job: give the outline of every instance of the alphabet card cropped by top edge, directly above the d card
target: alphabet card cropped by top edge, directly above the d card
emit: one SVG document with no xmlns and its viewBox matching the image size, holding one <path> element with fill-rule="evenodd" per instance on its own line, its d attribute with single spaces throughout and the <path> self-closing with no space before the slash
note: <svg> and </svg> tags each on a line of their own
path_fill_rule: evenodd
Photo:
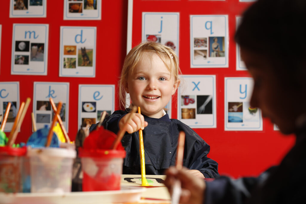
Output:
<svg viewBox="0 0 306 204">
<path fill-rule="evenodd" d="M 64 20 L 101 20 L 102 0 L 64 0 Z"/>
</svg>

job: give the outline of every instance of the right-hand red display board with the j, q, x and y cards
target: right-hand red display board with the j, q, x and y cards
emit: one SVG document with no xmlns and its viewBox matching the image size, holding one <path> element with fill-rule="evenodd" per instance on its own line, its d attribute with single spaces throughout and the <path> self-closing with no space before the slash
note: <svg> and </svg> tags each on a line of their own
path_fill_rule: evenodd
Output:
<svg viewBox="0 0 306 204">
<path fill-rule="evenodd" d="M 164 32 L 172 33 L 172 42 L 179 36 L 179 46 L 173 44 L 179 48 L 176 51 L 183 75 L 177 96 L 172 99 L 170 118 L 182 120 L 192 127 L 210 145 L 208 157 L 218 162 L 220 174 L 234 177 L 258 175 L 269 166 L 277 164 L 294 140 L 279 136 L 280 133 L 274 130 L 273 124 L 259 116 L 259 109 L 257 113 L 249 112 L 255 111 L 249 110 L 250 95 L 244 99 L 239 98 L 244 96 L 238 96 L 240 100 L 236 100 L 237 98 L 231 98 L 235 97 L 236 87 L 232 90 L 231 83 L 226 86 L 226 77 L 237 80 L 250 77 L 238 55 L 239 50 L 233 36 L 239 23 L 238 17 L 252 4 L 250 1 L 129 0 L 128 50 L 147 39 L 147 36 L 162 44 L 170 39 Z M 156 6 L 152 6 L 153 3 Z M 179 18 L 178 26 L 175 20 L 170 23 L 166 16 L 174 13 Z M 245 92 L 245 85 L 246 83 L 241 84 L 241 92 Z M 230 94 L 225 94 L 226 89 Z M 247 89 L 247 94 L 251 94 L 252 88 L 248 83 Z M 206 104 L 205 101 L 210 96 L 213 97 L 207 101 L 204 114 L 199 114 L 200 103 Z M 243 106 L 231 102 L 241 102 Z M 236 107 L 235 105 L 239 106 L 238 109 L 242 108 L 242 117 L 246 118 L 244 122 L 228 122 L 228 113 L 235 114 L 234 110 L 228 112 L 228 109 Z"/>
</svg>

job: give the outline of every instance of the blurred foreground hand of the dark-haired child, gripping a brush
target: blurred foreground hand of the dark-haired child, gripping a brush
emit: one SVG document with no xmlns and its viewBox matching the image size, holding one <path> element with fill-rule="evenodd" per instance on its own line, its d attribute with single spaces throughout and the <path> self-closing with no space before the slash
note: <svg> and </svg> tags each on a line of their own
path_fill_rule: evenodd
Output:
<svg viewBox="0 0 306 204">
<path fill-rule="evenodd" d="M 181 170 L 170 167 L 166 170 L 167 177 L 164 184 L 171 194 L 174 181 L 176 179 L 180 180 L 182 187 L 180 203 L 202 204 L 205 197 L 206 184 L 203 179 L 193 176 L 187 170 L 185 167 Z"/>
</svg>

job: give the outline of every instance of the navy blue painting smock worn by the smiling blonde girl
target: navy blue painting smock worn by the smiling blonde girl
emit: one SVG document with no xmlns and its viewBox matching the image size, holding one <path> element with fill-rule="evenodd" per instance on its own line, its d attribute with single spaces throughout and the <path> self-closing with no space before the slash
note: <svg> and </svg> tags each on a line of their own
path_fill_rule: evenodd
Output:
<svg viewBox="0 0 306 204">
<path fill-rule="evenodd" d="M 127 109 L 129 110 L 129 109 Z M 104 128 L 117 134 L 118 122 L 127 110 L 115 111 L 103 121 Z M 161 118 L 145 115 L 148 126 L 144 128 L 144 158 L 147 175 L 162 175 L 165 169 L 175 165 L 177 140 L 180 131 L 186 134 L 183 165 L 188 169 L 199 170 L 205 178 L 216 178 L 218 163 L 207 157 L 210 146 L 190 127 L 179 120 L 170 119 L 166 114 Z M 91 130 L 95 126 L 91 126 Z M 123 162 L 123 174 L 141 174 L 138 131 L 126 132 L 121 140 L 126 157 Z"/>
</svg>

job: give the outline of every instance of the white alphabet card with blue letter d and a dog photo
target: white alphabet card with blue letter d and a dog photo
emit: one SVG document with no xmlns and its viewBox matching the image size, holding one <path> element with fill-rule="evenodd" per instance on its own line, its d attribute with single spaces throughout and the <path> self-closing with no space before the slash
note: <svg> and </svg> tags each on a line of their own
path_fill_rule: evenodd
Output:
<svg viewBox="0 0 306 204">
<path fill-rule="evenodd" d="M 95 77 L 96 27 L 61 26 L 59 76 Z"/>
</svg>

